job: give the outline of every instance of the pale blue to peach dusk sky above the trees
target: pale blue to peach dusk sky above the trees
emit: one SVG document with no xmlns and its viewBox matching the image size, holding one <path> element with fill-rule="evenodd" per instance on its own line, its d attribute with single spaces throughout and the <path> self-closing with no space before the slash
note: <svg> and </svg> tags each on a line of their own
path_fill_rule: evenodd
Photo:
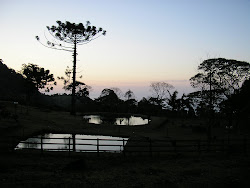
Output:
<svg viewBox="0 0 250 188">
<path fill-rule="evenodd" d="M 0 0 L 0 59 L 16 71 L 33 63 L 63 76 L 72 54 L 35 39 L 46 41 L 46 26 L 57 20 L 107 31 L 78 48 L 77 77 L 92 87 L 92 98 L 118 87 L 141 99 L 158 81 L 187 94 L 203 60 L 250 62 L 250 0 Z M 62 87 L 58 81 L 52 93 Z"/>
</svg>

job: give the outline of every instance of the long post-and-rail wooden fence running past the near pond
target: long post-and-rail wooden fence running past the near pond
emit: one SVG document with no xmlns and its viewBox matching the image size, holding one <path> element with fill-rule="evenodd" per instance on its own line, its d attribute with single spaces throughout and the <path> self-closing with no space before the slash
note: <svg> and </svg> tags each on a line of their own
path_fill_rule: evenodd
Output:
<svg viewBox="0 0 250 188">
<path fill-rule="evenodd" d="M 33 139 L 33 140 L 32 140 Z M 127 154 L 146 153 L 149 155 L 160 153 L 196 152 L 227 152 L 247 154 L 249 143 L 243 139 L 208 140 L 156 140 L 145 137 L 128 139 L 79 139 L 34 137 L 21 141 L 15 149 L 39 149 L 43 151 L 67 152 L 114 152 Z M 47 142 L 47 140 L 50 142 Z M 62 142 L 63 140 L 63 142 Z"/>
</svg>

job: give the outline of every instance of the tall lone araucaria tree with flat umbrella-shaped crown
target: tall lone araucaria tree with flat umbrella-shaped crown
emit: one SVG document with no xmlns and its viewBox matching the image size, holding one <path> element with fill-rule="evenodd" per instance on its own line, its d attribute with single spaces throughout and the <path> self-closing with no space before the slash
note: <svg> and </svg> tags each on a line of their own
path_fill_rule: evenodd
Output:
<svg viewBox="0 0 250 188">
<path fill-rule="evenodd" d="M 106 31 L 102 28 L 97 28 L 96 26 L 91 26 L 90 22 L 87 21 L 86 24 L 75 24 L 69 21 L 62 23 L 57 21 L 57 26 L 47 26 L 47 29 L 51 36 L 56 39 L 53 41 L 47 41 L 47 44 L 43 44 L 46 47 L 64 50 L 73 53 L 73 77 L 72 77 L 72 107 L 71 114 L 75 115 L 75 101 L 76 101 L 76 56 L 77 56 L 77 46 L 82 44 L 87 44 L 92 40 L 105 35 Z M 36 36 L 36 39 L 40 41 L 40 38 Z M 58 42 L 57 42 L 58 41 Z M 62 44 L 62 43 L 63 44 Z"/>
</svg>

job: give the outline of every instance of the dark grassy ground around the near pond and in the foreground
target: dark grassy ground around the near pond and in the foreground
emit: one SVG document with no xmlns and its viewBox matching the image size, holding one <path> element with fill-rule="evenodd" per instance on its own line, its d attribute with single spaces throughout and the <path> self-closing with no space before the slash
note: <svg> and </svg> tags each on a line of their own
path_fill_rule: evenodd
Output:
<svg viewBox="0 0 250 188">
<path fill-rule="evenodd" d="M 15 113 L 14 106 L 7 105 Z M 0 120 L 1 187 L 250 187 L 250 159 L 246 155 L 169 154 L 128 155 L 13 151 L 18 140 L 39 132 L 147 136 L 154 138 L 205 138 L 192 126 L 204 120 L 153 118 L 150 126 L 88 125 L 80 116 L 18 107 L 18 122 Z M 218 128 L 218 137 L 225 131 Z"/>
</svg>

